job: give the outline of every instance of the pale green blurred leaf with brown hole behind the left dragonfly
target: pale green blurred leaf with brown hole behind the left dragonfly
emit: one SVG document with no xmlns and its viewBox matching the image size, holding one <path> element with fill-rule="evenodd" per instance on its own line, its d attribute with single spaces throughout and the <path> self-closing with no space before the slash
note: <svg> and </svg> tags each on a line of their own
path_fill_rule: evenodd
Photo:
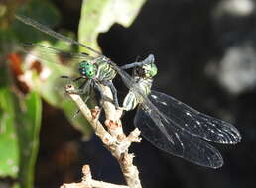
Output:
<svg viewBox="0 0 256 188">
<path fill-rule="evenodd" d="M 47 42 L 40 44 L 47 47 L 65 49 L 66 51 L 71 50 L 70 46 L 66 46 L 61 41 L 55 45 Z M 76 129 L 81 131 L 85 136 L 90 135 L 91 128 L 88 126 L 88 122 L 84 118 L 73 117 L 77 107 L 64 92 L 64 87 L 70 80 L 60 78 L 62 75 L 74 76 L 77 74 L 77 69 L 75 69 L 77 68 L 77 62 L 71 62 L 70 60 L 69 63 L 66 62 L 67 64 L 63 65 L 58 54 L 42 51 L 42 49 L 37 47 L 32 48 L 31 52 L 36 52 L 37 57 L 40 57 L 42 70 L 40 73 L 37 73 L 30 66 L 27 66 L 27 62 L 25 61 L 24 72 L 27 75 L 24 76 L 26 78 L 25 82 L 32 90 L 37 91 L 49 104 L 63 109 L 64 114 Z M 34 60 L 32 59 L 32 61 Z M 28 62 L 28 64 L 30 63 Z"/>
</svg>

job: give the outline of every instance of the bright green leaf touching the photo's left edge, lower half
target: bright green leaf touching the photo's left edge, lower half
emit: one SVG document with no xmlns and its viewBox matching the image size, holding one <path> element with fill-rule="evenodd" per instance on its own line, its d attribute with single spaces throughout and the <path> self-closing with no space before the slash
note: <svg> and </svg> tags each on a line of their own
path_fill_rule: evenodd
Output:
<svg viewBox="0 0 256 188">
<path fill-rule="evenodd" d="M 0 176 L 17 177 L 19 163 L 18 138 L 14 120 L 12 93 L 0 88 Z"/>
</svg>

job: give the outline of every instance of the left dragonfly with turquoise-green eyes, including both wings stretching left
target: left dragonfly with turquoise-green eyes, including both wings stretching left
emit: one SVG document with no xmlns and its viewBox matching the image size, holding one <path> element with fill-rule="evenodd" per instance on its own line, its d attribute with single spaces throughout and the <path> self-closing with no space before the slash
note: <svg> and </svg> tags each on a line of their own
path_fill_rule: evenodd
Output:
<svg viewBox="0 0 256 188">
<path fill-rule="evenodd" d="M 79 86 L 79 88 L 72 91 L 72 93 L 80 94 L 80 95 L 85 94 L 86 96 L 89 96 L 92 88 L 95 88 L 101 96 L 101 99 L 102 99 L 101 103 L 100 103 L 101 106 L 102 106 L 103 101 L 113 101 L 115 107 L 119 108 L 119 103 L 118 103 L 118 98 L 117 98 L 117 90 L 112 82 L 112 80 L 116 76 L 116 72 L 117 72 L 113 68 L 116 65 L 110 59 L 108 59 L 106 56 L 101 54 L 99 51 L 96 51 L 91 47 L 87 47 L 84 44 L 81 44 L 75 40 L 67 38 L 67 37 L 63 36 L 62 34 L 59 34 L 55 31 L 53 31 L 49 27 L 47 27 L 43 24 L 40 24 L 39 22 L 37 22 L 29 17 L 23 16 L 23 15 L 16 15 L 16 18 L 19 21 L 21 21 L 27 25 L 33 26 L 36 29 L 39 29 L 40 31 L 47 33 L 54 38 L 64 40 L 65 42 L 67 42 L 69 44 L 74 44 L 74 45 L 78 45 L 81 47 L 85 47 L 85 48 L 89 49 L 90 51 L 92 51 L 93 53 L 95 53 L 97 56 L 92 57 L 92 56 L 89 56 L 87 53 L 68 53 L 68 52 L 60 50 L 58 48 L 55 48 L 55 47 L 47 47 L 47 46 L 33 44 L 33 43 L 24 43 L 24 44 L 20 45 L 22 47 L 22 49 L 28 53 L 30 52 L 31 48 L 33 48 L 33 47 L 37 48 L 38 53 L 36 54 L 36 56 L 40 56 L 40 58 L 43 58 L 43 59 L 44 59 L 45 55 L 54 53 L 63 58 L 72 58 L 72 59 L 74 59 L 74 61 L 78 61 L 79 62 L 78 63 L 78 66 L 79 66 L 78 71 L 79 71 L 80 76 L 75 78 L 72 81 L 76 82 L 80 79 L 83 79 L 84 81 Z M 141 64 L 133 63 L 133 66 L 139 66 L 139 65 L 141 65 Z M 62 76 L 62 78 L 69 79 L 68 76 Z M 109 97 L 107 97 L 103 94 L 100 84 L 102 84 L 104 86 L 108 86 L 110 88 L 111 92 L 113 93 L 113 100 L 111 100 Z M 84 100 L 87 101 L 88 97 L 85 97 Z"/>
</svg>

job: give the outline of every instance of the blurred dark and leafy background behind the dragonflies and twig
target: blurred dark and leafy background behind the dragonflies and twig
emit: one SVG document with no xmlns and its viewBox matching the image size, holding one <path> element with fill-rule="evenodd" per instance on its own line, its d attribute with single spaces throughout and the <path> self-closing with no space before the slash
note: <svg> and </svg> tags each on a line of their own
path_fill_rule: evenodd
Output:
<svg viewBox="0 0 256 188">
<path fill-rule="evenodd" d="M 237 145 L 214 144 L 220 169 L 196 166 L 148 141 L 134 144 L 144 188 L 244 188 L 256 180 L 255 0 L 2 0 L 0 1 L 0 187 L 59 187 L 77 182 L 83 164 L 95 179 L 124 184 L 118 163 L 64 95 L 71 65 L 22 42 L 68 46 L 14 19 L 27 15 L 101 51 L 119 65 L 155 55 L 153 88 L 234 124 Z M 35 49 L 36 50 L 36 49 Z M 58 63 L 51 63 L 51 62 Z M 58 65 L 59 64 L 59 65 Z M 60 68 L 61 67 L 61 68 Z M 127 90 L 117 78 L 120 95 Z M 123 118 L 132 130 L 135 112 Z"/>
</svg>

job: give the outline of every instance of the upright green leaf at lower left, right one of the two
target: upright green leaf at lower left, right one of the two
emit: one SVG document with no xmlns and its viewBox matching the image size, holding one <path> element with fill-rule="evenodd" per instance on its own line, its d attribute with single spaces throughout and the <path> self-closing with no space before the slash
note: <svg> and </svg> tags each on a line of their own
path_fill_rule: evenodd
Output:
<svg viewBox="0 0 256 188">
<path fill-rule="evenodd" d="M 20 147 L 19 180 L 21 187 L 32 188 L 34 167 L 39 148 L 42 102 L 36 92 L 28 94 L 21 102 L 21 109 L 16 112 Z"/>
</svg>

